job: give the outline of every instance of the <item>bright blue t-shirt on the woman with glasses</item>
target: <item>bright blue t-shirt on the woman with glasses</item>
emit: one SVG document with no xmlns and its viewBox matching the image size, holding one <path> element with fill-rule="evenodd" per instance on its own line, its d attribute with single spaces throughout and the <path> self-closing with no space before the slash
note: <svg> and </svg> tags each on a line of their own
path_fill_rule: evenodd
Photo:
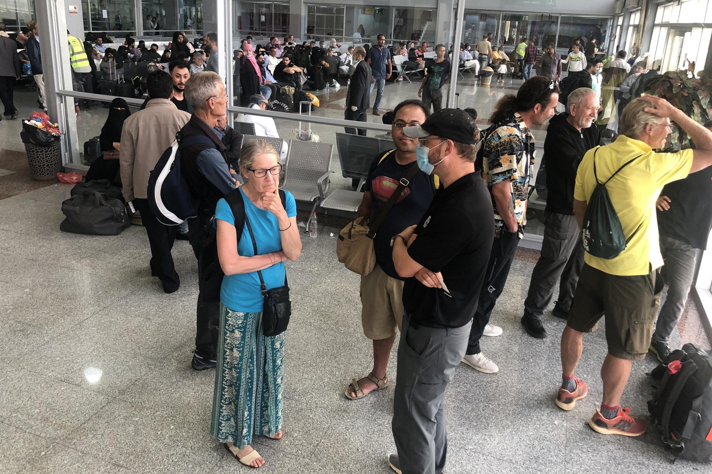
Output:
<svg viewBox="0 0 712 474">
<path fill-rule="evenodd" d="M 277 217 L 270 211 L 259 209 L 252 204 L 252 201 L 245 196 L 245 192 L 242 189 L 240 189 L 240 192 L 245 203 L 245 216 L 250 220 L 252 232 L 255 234 L 258 255 L 281 251 L 282 240 Z M 287 211 L 287 216 L 294 217 L 297 215 L 297 204 L 294 201 L 294 196 L 289 191 L 284 192 L 286 193 L 285 210 Z M 215 218 L 235 225 L 232 209 L 230 209 L 230 205 L 227 204 L 225 199 L 218 201 Z M 239 236 L 240 230 L 238 229 L 237 232 Z M 242 229 L 242 236 L 237 243 L 237 253 L 243 257 L 255 256 L 247 225 Z M 284 263 L 276 263 L 262 270 L 262 278 L 264 278 L 268 290 L 283 286 L 285 276 Z M 225 275 L 220 288 L 220 301 L 233 311 L 261 312 L 264 306 L 264 298 L 260 291 L 260 277 L 257 272 Z"/>
</svg>

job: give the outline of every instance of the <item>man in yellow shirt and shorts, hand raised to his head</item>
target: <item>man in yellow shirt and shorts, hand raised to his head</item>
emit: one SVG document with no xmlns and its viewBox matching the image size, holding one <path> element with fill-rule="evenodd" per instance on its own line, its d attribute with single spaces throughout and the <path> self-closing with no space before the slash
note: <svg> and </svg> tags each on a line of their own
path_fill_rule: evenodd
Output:
<svg viewBox="0 0 712 474">
<path fill-rule="evenodd" d="M 666 146 L 671 120 L 690 135 L 696 149 L 653 151 Z M 664 285 L 658 273 L 663 259 L 655 202 L 665 184 L 712 164 L 712 132 L 666 100 L 649 95 L 627 105 L 620 131 L 615 142 L 583 157 L 576 176 L 574 215 L 581 227 L 597 182 L 603 183 L 620 169 L 605 186 L 627 246 L 609 260 L 585 253 L 561 337 L 562 384 L 556 404 L 568 411 L 586 396 L 586 382 L 575 379 L 574 370 L 581 357 L 583 333 L 594 331 L 605 314 L 608 354 L 601 368 L 603 401 L 589 425 L 602 434 L 640 436 L 645 421 L 630 416 L 619 402 L 632 361 L 643 359 L 648 351 Z"/>
</svg>

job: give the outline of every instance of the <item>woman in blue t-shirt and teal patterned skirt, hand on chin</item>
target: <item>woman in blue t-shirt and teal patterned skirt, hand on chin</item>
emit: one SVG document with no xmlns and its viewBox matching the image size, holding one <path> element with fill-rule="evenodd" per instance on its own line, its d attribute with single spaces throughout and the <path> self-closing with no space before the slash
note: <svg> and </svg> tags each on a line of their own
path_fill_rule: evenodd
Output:
<svg viewBox="0 0 712 474">
<path fill-rule="evenodd" d="M 268 290 L 283 286 L 284 262 L 302 251 L 294 196 L 279 197 L 282 171 L 278 152 L 263 140 L 242 147 L 239 190 L 257 244 L 247 226 L 235 228 L 229 204 L 215 210 L 217 246 L 225 278 L 220 290 L 220 330 L 210 433 L 244 465 L 259 468 L 264 460 L 252 436 L 282 438 L 284 335 L 265 337 L 263 296 L 257 270 Z M 286 209 L 285 209 L 286 208 Z"/>
</svg>

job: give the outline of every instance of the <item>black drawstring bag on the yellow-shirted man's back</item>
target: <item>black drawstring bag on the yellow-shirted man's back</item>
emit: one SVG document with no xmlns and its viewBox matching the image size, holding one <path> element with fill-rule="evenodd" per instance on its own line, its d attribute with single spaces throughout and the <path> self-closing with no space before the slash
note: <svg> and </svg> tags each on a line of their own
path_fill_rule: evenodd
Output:
<svg viewBox="0 0 712 474">
<path fill-rule="evenodd" d="M 643 224 L 641 223 L 629 238 L 625 237 L 623 226 L 613 206 L 611 197 L 608 195 L 606 184 L 622 169 L 643 155 L 641 154 L 625 162 L 606 181 L 601 182 L 598 180 L 596 172 L 596 153 L 599 149 L 600 147 L 597 147 L 593 152 L 593 176 L 596 179 L 596 187 L 588 199 L 588 206 L 583 215 L 583 248 L 592 256 L 610 260 L 625 250 L 630 239 L 638 233 Z"/>
</svg>

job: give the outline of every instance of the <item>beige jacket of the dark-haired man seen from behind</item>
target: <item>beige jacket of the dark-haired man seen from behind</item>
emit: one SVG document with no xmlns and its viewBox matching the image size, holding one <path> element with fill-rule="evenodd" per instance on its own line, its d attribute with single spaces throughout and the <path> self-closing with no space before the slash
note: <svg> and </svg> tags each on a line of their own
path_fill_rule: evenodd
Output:
<svg viewBox="0 0 712 474">
<path fill-rule="evenodd" d="M 148 177 L 190 114 L 168 99 L 152 99 L 128 117 L 121 129 L 121 182 L 124 199 L 146 199 Z"/>
</svg>

